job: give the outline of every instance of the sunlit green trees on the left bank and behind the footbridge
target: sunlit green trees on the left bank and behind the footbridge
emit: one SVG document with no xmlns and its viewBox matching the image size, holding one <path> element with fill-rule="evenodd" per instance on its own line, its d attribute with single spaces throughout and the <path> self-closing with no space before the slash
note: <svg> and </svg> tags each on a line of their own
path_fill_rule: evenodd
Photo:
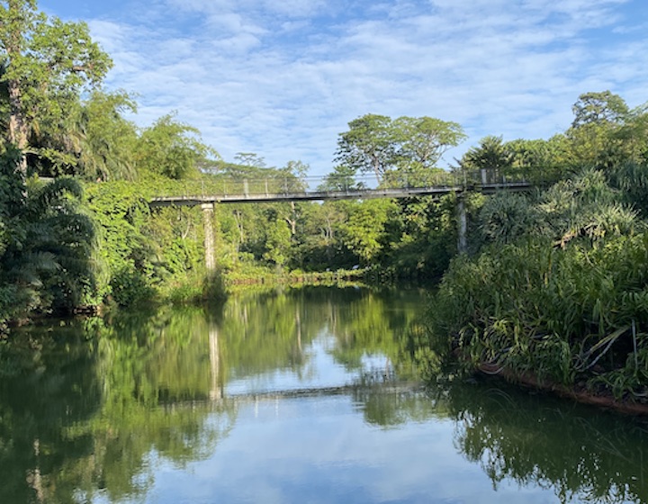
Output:
<svg viewBox="0 0 648 504">
<path fill-rule="evenodd" d="M 381 264 L 392 265 L 382 274 L 439 275 L 453 254 L 452 202 L 232 205 L 207 224 L 218 250 L 218 271 L 208 272 L 200 209 L 151 209 L 150 197 L 242 180 L 299 189 L 309 167 L 268 167 L 252 153 L 223 161 L 173 114 L 136 127 L 137 103 L 101 86 L 112 61 L 85 23 L 48 18 L 35 0 L 0 4 L 0 54 L 0 323 L 213 296 L 223 278 L 277 271 Z M 453 122 L 367 115 L 341 135 L 324 188 L 357 185 L 365 171 L 376 184 L 429 177 L 463 138 Z"/>
</svg>

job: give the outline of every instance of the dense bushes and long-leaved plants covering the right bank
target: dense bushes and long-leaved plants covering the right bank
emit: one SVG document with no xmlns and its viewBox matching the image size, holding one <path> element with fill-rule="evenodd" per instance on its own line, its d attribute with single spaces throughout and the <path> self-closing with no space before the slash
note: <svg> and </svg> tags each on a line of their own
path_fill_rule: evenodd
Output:
<svg viewBox="0 0 648 504">
<path fill-rule="evenodd" d="M 644 401 L 648 114 L 609 92 L 573 110 L 545 163 L 526 168 L 552 167 L 554 184 L 501 193 L 475 214 L 473 255 L 447 271 L 435 325 L 471 367 Z M 463 164 L 515 169 L 516 145 L 485 139 Z"/>
</svg>

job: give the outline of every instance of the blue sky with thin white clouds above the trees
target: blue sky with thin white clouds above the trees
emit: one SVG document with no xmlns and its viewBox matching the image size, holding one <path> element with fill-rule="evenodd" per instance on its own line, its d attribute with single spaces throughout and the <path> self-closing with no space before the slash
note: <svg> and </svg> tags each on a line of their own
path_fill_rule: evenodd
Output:
<svg viewBox="0 0 648 504">
<path fill-rule="evenodd" d="M 579 94 L 648 101 L 645 0 L 41 0 L 114 60 L 148 126 L 176 112 L 226 160 L 329 173 L 365 113 L 437 117 L 468 139 L 549 138 Z"/>
</svg>

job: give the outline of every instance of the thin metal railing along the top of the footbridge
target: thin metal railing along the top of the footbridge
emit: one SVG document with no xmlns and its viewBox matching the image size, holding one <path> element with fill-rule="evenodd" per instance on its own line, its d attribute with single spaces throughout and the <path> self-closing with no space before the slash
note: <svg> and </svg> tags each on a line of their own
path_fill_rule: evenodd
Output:
<svg viewBox="0 0 648 504">
<path fill-rule="evenodd" d="M 160 185 L 152 190 L 152 197 L 271 196 L 320 191 L 468 187 L 483 184 L 505 184 L 521 180 L 522 177 L 500 175 L 495 170 L 445 171 L 424 175 L 393 172 L 385 175 L 381 184 L 376 182 L 373 175 L 356 176 L 352 184 L 345 184 L 344 180 L 336 182 L 331 177 L 229 178 L 217 175 Z M 320 189 L 324 183 L 327 183 L 326 189 Z"/>
</svg>

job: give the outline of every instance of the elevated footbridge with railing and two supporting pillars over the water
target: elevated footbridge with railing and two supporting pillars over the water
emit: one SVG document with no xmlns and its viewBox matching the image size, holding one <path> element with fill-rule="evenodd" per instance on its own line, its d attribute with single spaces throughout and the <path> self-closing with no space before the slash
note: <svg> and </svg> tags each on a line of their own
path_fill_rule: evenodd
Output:
<svg viewBox="0 0 648 504">
<path fill-rule="evenodd" d="M 321 190 L 322 184 L 333 184 L 332 190 Z M 310 187 L 316 187 L 311 190 Z M 215 203 L 251 202 L 308 202 L 330 200 L 367 200 L 375 198 L 411 198 L 432 196 L 439 198 L 449 193 L 462 195 L 469 191 L 492 194 L 499 191 L 526 191 L 531 184 L 525 180 L 511 180 L 497 171 L 430 174 L 424 181 L 390 180 L 378 187 L 370 187 L 360 180 L 353 185 L 336 183 L 327 177 L 299 179 L 294 176 L 275 176 L 264 179 L 216 178 L 178 183 L 172 189 L 149 200 L 151 207 L 201 205 L 205 231 L 205 266 L 216 267 L 213 229 L 211 222 Z M 466 249 L 466 213 L 463 198 L 458 198 L 458 249 Z"/>
</svg>

